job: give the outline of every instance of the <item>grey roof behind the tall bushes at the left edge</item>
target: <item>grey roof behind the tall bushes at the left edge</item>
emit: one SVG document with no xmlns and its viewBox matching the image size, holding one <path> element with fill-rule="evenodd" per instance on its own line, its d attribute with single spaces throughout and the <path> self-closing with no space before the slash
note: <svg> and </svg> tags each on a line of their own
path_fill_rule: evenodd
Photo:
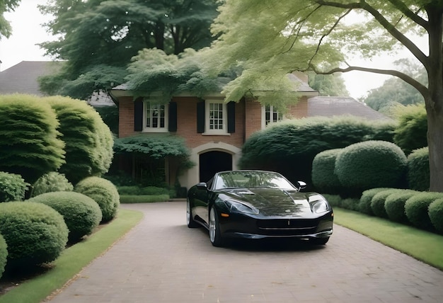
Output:
<svg viewBox="0 0 443 303">
<path fill-rule="evenodd" d="M 22 61 L 0 72 L 0 94 L 28 93 L 44 96 L 38 88 L 38 77 L 53 74 L 59 67 L 59 62 Z"/>
</svg>

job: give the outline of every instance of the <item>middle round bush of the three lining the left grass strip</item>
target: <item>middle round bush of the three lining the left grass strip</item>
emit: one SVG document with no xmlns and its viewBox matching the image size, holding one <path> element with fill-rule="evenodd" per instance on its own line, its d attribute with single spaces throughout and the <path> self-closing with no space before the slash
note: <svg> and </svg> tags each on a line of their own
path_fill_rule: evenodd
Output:
<svg viewBox="0 0 443 303">
<path fill-rule="evenodd" d="M 43 203 L 57 210 L 69 229 L 69 241 L 91 234 L 101 221 L 101 210 L 87 195 L 74 192 L 43 193 L 28 200 Z"/>
</svg>

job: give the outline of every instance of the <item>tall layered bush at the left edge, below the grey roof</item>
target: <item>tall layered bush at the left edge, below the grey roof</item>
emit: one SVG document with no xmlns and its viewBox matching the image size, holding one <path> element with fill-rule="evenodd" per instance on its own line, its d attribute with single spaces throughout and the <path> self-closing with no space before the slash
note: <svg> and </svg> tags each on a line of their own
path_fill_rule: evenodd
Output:
<svg viewBox="0 0 443 303">
<path fill-rule="evenodd" d="M 0 95 L 0 171 L 16 173 L 30 184 L 64 164 L 59 121 L 40 99 Z"/>
</svg>

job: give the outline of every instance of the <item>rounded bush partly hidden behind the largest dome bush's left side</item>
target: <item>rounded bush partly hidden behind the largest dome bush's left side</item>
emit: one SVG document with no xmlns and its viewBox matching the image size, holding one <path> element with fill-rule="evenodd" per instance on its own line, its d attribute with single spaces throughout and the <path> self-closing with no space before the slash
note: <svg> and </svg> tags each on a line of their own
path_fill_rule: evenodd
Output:
<svg viewBox="0 0 443 303">
<path fill-rule="evenodd" d="M 335 159 L 342 149 L 328 149 L 316 154 L 312 161 L 312 183 L 321 193 L 340 193 L 340 181 L 334 173 Z"/>
</svg>

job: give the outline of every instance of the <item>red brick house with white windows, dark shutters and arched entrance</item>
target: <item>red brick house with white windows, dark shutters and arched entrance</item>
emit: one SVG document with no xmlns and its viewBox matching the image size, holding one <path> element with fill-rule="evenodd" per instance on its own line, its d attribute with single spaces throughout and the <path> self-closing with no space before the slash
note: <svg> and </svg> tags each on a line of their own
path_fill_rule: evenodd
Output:
<svg viewBox="0 0 443 303">
<path fill-rule="evenodd" d="M 155 93 L 134 100 L 134 93 L 124 84 L 111 89 L 109 94 L 119 108 L 120 138 L 169 134 L 185 139 L 195 166 L 180 176 L 175 176 L 175 164 L 168 163 L 168 159 L 164 168 L 167 183 L 173 185 L 178 178 L 181 186 L 190 188 L 208 181 L 217 171 L 238 168 L 241 147 L 253 132 L 280 120 L 308 116 L 308 99 L 318 96 L 318 91 L 308 86 L 304 74 L 290 74 L 289 79 L 297 83 L 294 99 L 300 95 L 301 98 L 284 116 L 272 106 L 262 106 L 250 98 L 224 103 L 220 93 L 210 93 L 204 98 L 182 93 L 173 96 L 168 105 L 156 104 Z"/>
</svg>

